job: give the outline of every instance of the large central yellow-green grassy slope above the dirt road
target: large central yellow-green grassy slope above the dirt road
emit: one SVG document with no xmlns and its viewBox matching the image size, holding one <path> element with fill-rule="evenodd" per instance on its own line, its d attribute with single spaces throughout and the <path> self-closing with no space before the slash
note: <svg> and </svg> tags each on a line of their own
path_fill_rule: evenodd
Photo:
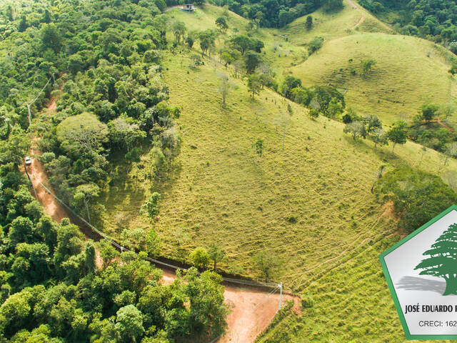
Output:
<svg viewBox="0 0 457 343">
<path fill-rule="evenodd" d="M 171 165 L 171 178 L 152 185 L 136 181 L 137 170 L 149 165 L 147 154 L 128 173 L 118 167 L 104 193 L 104 229 L 113 235 L 124 228 L 144 227 L 146 232 L 151 222 L 139 216 L 139 209 L 151 192 L 159 192 L 161 214 L 154 229 L 166 256 L 185 259 L 195 247 L 216 243 L 228 253 L 225 270 L 256 276 L 251 257 L 266 249 L 282 260 L 276 279 L 298 294 L 310 292 L 322 308 L 334 304 L 330 318 L 349 311 L 341 302 L 363 295 L 351 302 L 353 315 L 373 319 L 378 302 L 390 304 L 377 254 L 398 236 L 385 239 L 396 233 L 394 219 L 388 207 L 376 202 L 371 185 L 381 164 L 417 165 L 420 146 L 408 142 L 398 146 L 395 155 L 390 146 L 375 150 L 345 136 L 343 124 L 323 117 L 313 121 L 306 109 L 291 103 L 292 126 L 283 150 L 276 121 L 286 112 L 285 99 L 263 90 L 252 100 L 241 80 L 233 79 L 235 90 L 223 106 L 217 74 L 224 67 L 207 59 L 201 68 L 191 69 L 189 62 L 188 56 L 171 54 L 164 61 L 164 66 L 181 66 L 165 73 L 171 101 L 183 109 L 177 119 L 183 143 Z M 261 158 L 252 148 L 258 138 L 265 146 Z M 436 172 L 438 165 L 433 151 L 421 168 Z M 448 169 L 455 168 L 456 161 L 451 161 Z M 360 272 L 348 275 L 346 268 L 356 259 L 363 261 L 356 269 Z M 370 282 L 363 279 L 366 289 L 356 289 L 356 280 L 372 272 Z M 334 280 L 346 288 L 340 292 Z M 368 302 L 373 304 L 370 309 L 364 305 Z M 398 325 L 389 324 L 397 320 L 393 305 L 381 308 L 378 327 L 396 327 L 395 337 L 401 339 Z M 318 322 L 330 315 L 315 311 L 313 320 Z M 310 330 L 301 319 L 287 320 Z M 335 334 L 332 325 L 320 327 L 323 337 Z M 371 330 L 363 337 L 378 342 L 392 337 L 392 332 Z M 356 337 L 356 331 L 348 332 L 345 342 L 357 342 Z"/>
</svg>

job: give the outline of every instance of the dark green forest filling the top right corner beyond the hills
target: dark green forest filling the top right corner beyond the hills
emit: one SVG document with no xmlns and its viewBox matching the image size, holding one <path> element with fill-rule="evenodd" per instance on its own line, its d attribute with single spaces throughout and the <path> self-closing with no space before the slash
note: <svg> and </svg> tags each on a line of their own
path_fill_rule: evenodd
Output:
<svg viewBox="0 0 457 343">
<path fill-rule="evenodd" d="M 457 52 L 457 4 L 453 0 L 360 0 L 359 4 L 374 14 L 393 11 L 394 29 L 401 34 L 436 41 Z"/>
</svg>

